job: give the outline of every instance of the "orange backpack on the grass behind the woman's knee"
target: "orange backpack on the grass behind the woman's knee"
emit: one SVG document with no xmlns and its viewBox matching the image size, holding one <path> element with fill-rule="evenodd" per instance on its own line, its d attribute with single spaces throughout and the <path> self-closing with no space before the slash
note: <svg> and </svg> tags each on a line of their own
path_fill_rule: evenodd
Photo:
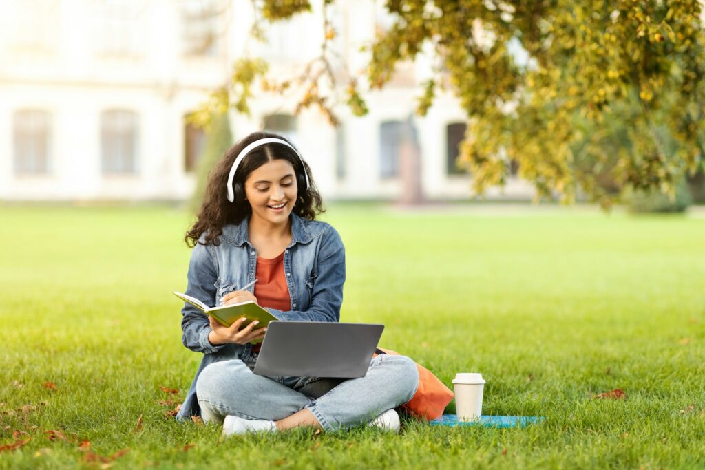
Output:
<svg viewBox="0 0 705 470">
<path fill-rule="evenodd" d="M 400 355 L 396 351 L 383 350 L 378 347 L 372 357 L 379 354 Z M 417 418 L 423 418 L 427 421 L 443 416 L 443 410 L 453 400 L 453 392 L 429 369 L 419 364 L 416 364 L 416 369 L 419 371 L 419 388 L 417 388 L 414 397 L 402 407 Z"/>
</svg>

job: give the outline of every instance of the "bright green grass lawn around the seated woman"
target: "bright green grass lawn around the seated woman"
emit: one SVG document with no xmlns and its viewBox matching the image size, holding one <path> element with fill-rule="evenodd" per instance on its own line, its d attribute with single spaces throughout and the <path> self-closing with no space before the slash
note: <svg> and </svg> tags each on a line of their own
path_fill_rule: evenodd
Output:
<svg viewBox="0 0 705 470">
<path fill-rule="evenodd" d="M 222 440 L 159 403 L 180 402 L 201 359 L 171 295 L 188 216 L 0 208 L 0 446 L 30 438 L 0 467 L 702 468 L 705 218 L 527 209 L 344 205 L 324 220 L 346 247 L 341 321 L 384 323 L 383 347 L 448 385 L 482 372 L 484 414 L 544 423 Z M 594 399 L 616 388 L 623 400 Z"/>
</svg>

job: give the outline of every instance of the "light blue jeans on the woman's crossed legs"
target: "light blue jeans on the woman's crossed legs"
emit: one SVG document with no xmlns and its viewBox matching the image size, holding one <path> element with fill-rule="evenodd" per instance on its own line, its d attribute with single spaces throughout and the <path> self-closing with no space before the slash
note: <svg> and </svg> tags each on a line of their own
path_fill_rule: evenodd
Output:
<svg viewBox="0 0 705 470">
<path fill-rule="evenodd" d="M 381 354 L 360 378 L 257 376 L 257 353 L 209 364 L 198 377 L 196 394 L 203 421 L 221 423 L 226 415 L 279 420 L 308 409 L 333 431 L 373 419 L 412 399 L 419 384 L 414 361 Z"/>
</svg>

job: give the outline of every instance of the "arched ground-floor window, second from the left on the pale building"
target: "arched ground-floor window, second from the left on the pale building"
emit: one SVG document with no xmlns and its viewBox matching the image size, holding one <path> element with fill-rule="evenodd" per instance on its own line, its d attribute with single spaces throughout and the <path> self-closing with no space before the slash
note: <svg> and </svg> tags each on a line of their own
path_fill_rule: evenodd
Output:
<svg viewBox="0 0 705 470">
<path fill-rule="evenodd" d="M 137 173 L 139 118 L 133 111 L 104 111 L 100 117 L 101 171 Z"/>
</svg>

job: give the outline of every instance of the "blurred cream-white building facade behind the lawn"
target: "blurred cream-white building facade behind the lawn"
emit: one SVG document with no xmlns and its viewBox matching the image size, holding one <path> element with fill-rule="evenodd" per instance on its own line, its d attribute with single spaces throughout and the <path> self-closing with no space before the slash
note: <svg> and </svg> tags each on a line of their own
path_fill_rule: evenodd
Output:
<svg viewBox="0 0 705 470">
<path fill-rule="evenodd" d="M 357 73 L 368 58 L 360 48 L 388 18 L 372 0 L 336 4 L 331 48 Z M 185 116 L 227 82 L 233 61 L 247 51 L 286 77 L 320 53 L 319 5 L 269 26 L 266 44 L 249 39 L 252 20 L 248 0 L 0 2 L 0 199 L 190 197 L 205 135 Z M 233 135 L 266 128 L 291 137 L 326 198 L 404 199 L 411 174 L 424 199 L 467 199 L 470 175 L 455 166 L 465 133 L 458 101 L 442 94 L 414 116 L 430 69 L 424 58 L 401 64 L 383 91 L 365 96 L 366 116 L 336 107 L 338 128 L 314 109 L 295 116 L 295 94 L 259 93 L 250 116 L 231 116 Z M 415 170 L 405 173 L 410 145 Z M 488 194 L 531 195 L 517 178 Z"/>
</svg>

